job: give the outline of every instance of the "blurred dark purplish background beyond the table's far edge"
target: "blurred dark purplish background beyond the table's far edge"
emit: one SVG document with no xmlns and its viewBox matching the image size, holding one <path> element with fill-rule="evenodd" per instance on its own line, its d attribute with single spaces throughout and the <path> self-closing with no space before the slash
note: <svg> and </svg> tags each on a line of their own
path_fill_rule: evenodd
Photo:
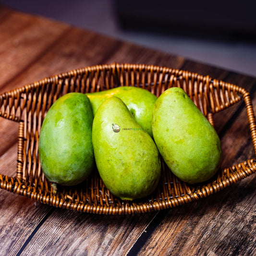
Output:
<svg viewBox="0 0 256 256">
<path fill-rule="evenodd" d="M 0 3 L 256 76 L 254 1 L 0 0 Z"/>
</svg>

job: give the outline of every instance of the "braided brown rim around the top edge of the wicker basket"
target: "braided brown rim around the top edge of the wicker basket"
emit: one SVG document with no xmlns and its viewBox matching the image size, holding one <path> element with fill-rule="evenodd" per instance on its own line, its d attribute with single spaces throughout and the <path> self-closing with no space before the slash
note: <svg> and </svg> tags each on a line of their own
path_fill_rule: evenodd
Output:
<svg viewBox="0 0 256 256">
<path fill-rule="evenodd" d="M 232 85 L 223 81 L 219 81 L 216 79 L 212 79 L 210 76 L 203 76 L 197 73 L 189 72 L 189 71 L 183 71 L 178 69 L 171 69 L 168 67 L 161 67 L 161 66 L 155 66 L 155 65 L 146 65 L 146 64 L 128 64 L 128 63 L 112 63 L 112 64 L 103 64 L 103 65 L 95 65 L 95 66 L 89 66 L 84 67 L 80 69 L 74 69 L 68 72 L 60 73 L 57 75 L 46 77 L 42 80 L 39 80 L 37 82 L 34 82 L 32 84 L 24 85 L 23 87 L 13 89 L 9 92 L 3 93 L 0 95 L 0 110 L 1 107 L 4 105 L 9 106 L 10 108 L 13 108 L 13 105 L 15 105 L 12 100 L 19 99 L 20 95 L 22 93 L 30 93 L 31 90 L 37 89 L 42 85 L 49 84 L 49 83 L 57 83 L 60 80 L 65 80 L 67 78 L 73 77 L 74 79 L 82 74 L 85 73 L 100 73 L 102 71 L 109 71 L 112 72 L 114 76 L 118 75 L 118 72 L 130 72 L 130 71 L 137 71 L 137 72 L 150 72 L 150 73 L 169 73 L 171 74 L 170 77 L 172 80 L 180 80 L 180 81 L 188 81 L 196 79 L 199 81 L 204 81 L 205 83 L 208 83 L 209 86 L 207 87 L 209 90 L 232 90 L 234 92 L 237 92 L 241 97 L 239 100 L 244 99 L 245 101 L 245 107 L 247 109 L 247 115 L 249 119 L 250 124 L 250 130 L 251 130 L 251 136 L 253 138 L 253 145 L 254 150 L 256 151 L 256 131 L 255 131 L 255 118 L 254 118 L 254 112 L 252 109 L 252 104 L 250 100 L 249 93 L 243 88 L 239 87 L 237 85 Z M 166 81 L 165 81 L 166 83 Z M 124 85 L 121 85 L 124 86 Z M 148 85 L 151 86 L 151 85 Z M 11 99 L 11 103 L 10 103 Z M 212 99 L 210 99 L 212 100 Z M 9 102 L 8 104 L 6 102 Z M 230 105 L 236 103 L 238 99 L 235 99 L 234 102 L 229 102 Z M 221 106 L 219 105 L 218 108 L 214 109 L 213 111 L 218 112 L 222 109 L 228 108 L 229 106 Z M 8 110 L 9 111 L 9 110 Z M 7 112 L 8 112 L 7 111 Z M 9 111 L 10 112 L 10 111 Z M 0 111 L 0 116 L 6 119 L 11 119 L 16 122 L 21 122 L 21 117 L 17 118 L 12 115 L 8 116 L 8 113 L 3 113 L 3 111 Z M 146 213 L 150 211 L 155 211 L 159 209 L 164 208 L 170 208 L 175 207 L 178 205 L 182 205 L 184 203 L 188 203 L 191 201 L 194 201 L 196 199 L 206 197 L 208 195 L 211 195 L 213 193 L 218 192 L 221 189 L 224 189 L 225 187 L 231 185 L 232 183 L 236 183 L 249 175 L 256 172 L 256 159 L 248 159 L 242 163 L 238 163 L 232 167 L 228 167 L 225 170 L 239 170 L 236 172 L 236 175 L 231 175 L 229 178 L 226 178 L 222 181 L 216 181 L 215 183 L 211 183 L 211 185 L 207 185 L 203 187 L 201 190 L 196 190 L 194 192 L 191 192 L 190 194 L 186 195 L 180 195 L 175 198 L 169 198 L 164 199 L 161 201 L 155 201 L 155 202 L 147 202 L 145 204 L 131 204 L 130 206 L 127 205 L 127 202 L 122 201 L 122 205 L 120 207 L 106 207 L 106 206 L 100 206 L 97 204 L 94 205 L 86 205 L 85 203 L 82 204 L 75 204 L 71 201 L 61 201 L 61 198 L 58 197 L 58 195 L 53 195 L 52 192 L 49 190 L 47 193 L 44 191 L 43 193 L 38 193 L 35 189 L 33 189 L 33 185 L 30 185 L 28 182 L 22 181 L 20 178 L 16 177 L 9 177 L 7 175 L 0 174 L 0 188 L 5 189 L 7 191 L 10 191 L 12 193 L 16 193 L 18 195 L 25 195 L 29 198 L 32 198 L 34 200 L 37 200 L 39 202 L 42 202 L 44 204 L 49 204 L 56 207 L 63 207 L 78 211 L 84 211 L 89 213 L 98 213 L 98 214 L 131 214 L 131 213 Z"/>
</svg>

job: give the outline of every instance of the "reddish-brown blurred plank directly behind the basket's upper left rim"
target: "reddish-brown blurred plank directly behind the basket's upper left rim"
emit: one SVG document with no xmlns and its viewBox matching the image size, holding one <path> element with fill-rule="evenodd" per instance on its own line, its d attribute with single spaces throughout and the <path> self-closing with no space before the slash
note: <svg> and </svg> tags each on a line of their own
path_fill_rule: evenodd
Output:
<svg viewBox="0 0 256 256">
<path fill-rule="evenodd" d="M 54 46 L 37 58 L 33 65 L 28 66 L 23 73 L 13 78 L 2 89 L 7 91 L 34 83 L 45 77 L 99 64 L 108 55 L 102 50 L 101 43 L 104 44 L 106 51 L 114 51 L 119 44 L 114 40 L 73 28 L 65 37 L 60 38 Z"/>
</svg>

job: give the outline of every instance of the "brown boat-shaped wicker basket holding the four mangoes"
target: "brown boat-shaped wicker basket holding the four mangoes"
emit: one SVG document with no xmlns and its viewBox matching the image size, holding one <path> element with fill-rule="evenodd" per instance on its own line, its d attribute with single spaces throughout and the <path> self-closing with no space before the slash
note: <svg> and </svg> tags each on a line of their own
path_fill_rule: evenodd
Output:
<svg viewBox="0 0 256 256">
<path fill-rule="evenodd" d="M 256 160 L 249 159 L 219 170 L 214 179 L 193 186 L 181 182 L 162 161 L 158 187 L 144 199 L 127 202 L 111 195 L 97 170 L 77 186 L 58 186 L 56 193 L 44 177 L 38 159 L 38 137 L 47 110 L 66 93 L 96 92 L 117 86 L 139 86 L 156 96 L 169 87 L 182 87 L 212 124 L 214 113 L 244 100 L 256 151 L 255 116 L 249 93 L 244 88 L 165 67 L 97 65 L 45 78 L 0 95 L 0 116 L 19 122 L 16 177 L 0 174 L 0 188 L 55 207 L 97 214 L 132 214 L 175 207 L 206 197 L 256 171 Z"/>
</svg>

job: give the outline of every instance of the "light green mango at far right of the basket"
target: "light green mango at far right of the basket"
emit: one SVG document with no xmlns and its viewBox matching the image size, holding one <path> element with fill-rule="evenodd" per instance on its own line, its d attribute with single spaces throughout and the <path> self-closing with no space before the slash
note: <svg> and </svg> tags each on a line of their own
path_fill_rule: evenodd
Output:
<svg viewBox="0 0 256 256">
<path fill-rule="evenodd" d="M 219 136 L 183 89 L 172 87 L 159 96 L 152 130 L 165 163 L 184 182 L 205 182 L 218 170 Z"/>
</svg>

